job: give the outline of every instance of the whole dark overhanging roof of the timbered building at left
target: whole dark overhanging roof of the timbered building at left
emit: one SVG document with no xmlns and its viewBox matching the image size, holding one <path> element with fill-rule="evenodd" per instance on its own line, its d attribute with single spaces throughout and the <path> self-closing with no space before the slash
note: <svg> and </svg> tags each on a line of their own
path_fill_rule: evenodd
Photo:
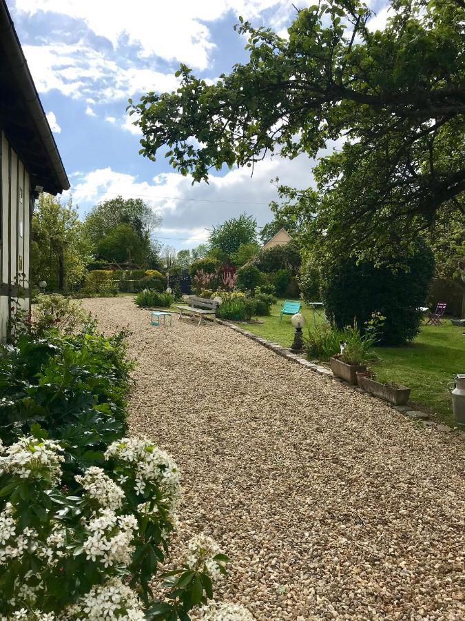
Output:
<svg viewBox="0 0 465 621">
<path fill-rule="evenodd" d="M 53 195 L 68 190 L 70 182 L 5 0 L 0 0 L 0 130 L 31 175 L 32 185 Z"/>
</svg>

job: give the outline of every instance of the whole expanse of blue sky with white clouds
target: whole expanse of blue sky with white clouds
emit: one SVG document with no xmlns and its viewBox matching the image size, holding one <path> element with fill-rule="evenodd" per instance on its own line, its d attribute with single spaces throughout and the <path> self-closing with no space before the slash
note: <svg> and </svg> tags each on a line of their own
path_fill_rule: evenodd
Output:
<svg viewBox="0 0 465 621">
<path fill-rule="evenodd" d="M 309 6 L 315 0 L 294 1 Z M 295 8 L 290 0 L 7 0 L 32 77 L 48 114 L 81 217 L 96 202 L 141 197 L 163 217 L 157 237 L 178 249 L 205 241 L 208 228 L 243 213 L 258 226 L 271 219 L 270 180 L 305 188 L 312 161 L 274 157 L 255 168 L 214 175 L 192 186 L 162 157 L 138 155 L 139 136 L 125 115 L 127 99 L 176 88 L 186 63 L 214 79 L 245 61 L 238 15 L 281 34 Z M 383 28 L 385 0 L 371 0 L 373 28 Z"/>
</svg>

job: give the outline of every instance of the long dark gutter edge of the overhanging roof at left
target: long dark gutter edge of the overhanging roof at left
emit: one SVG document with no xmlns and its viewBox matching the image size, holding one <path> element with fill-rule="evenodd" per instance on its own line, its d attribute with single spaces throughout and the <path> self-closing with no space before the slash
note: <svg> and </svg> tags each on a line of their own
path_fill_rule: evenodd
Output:
<svg viewBox="0 0 465 621">
<path fill-rule="evenodd" d="M 68 181 L 52 130 L 50 130 L 47 117 L 45 117 L 39 94 L 34 86 L 34 81 L 23 54 L 21 43 L 19 43 L 17 33 L 14 30 L 10 13 L 3 0 L 0 0 L 0 37 L 7 43 L 5 47 L 8 50 L 8 61 L 19 82 L 30 117 L 50 158 L 50 165 L 56 177 L 56 192 L 69 190 L 70 181 Z"/>
</svg>

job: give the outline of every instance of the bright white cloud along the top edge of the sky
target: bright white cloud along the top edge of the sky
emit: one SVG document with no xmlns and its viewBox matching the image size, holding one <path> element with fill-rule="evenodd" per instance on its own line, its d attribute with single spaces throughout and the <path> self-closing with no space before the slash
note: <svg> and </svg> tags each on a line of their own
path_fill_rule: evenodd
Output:
<svg viewBox="0 0 465 621">
<path fill-rule="evenodd" d="M 299 3 L 307 6 L 309 0 Z M 111 41 L 116 49 L 125 38 L 141 46 L 141 57 L 156 55 L 167 61 L 207 68 L 211 41 L 207 24 L 232 11 L 247 19 L 273 9 L 270 24 L 280 28 L 295 12 L 289 0 L 139 0 L 136 6 L 114 0 L 16 0 L 16 9 L 34 14 L 55 12 L 85 21 L 95 34 Z"/>
</svg>

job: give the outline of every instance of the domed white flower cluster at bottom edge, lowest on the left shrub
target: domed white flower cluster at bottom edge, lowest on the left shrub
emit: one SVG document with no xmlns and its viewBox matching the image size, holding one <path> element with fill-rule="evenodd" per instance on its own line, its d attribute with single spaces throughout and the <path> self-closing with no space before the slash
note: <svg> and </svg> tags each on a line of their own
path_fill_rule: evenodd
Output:
<svg viewBox="0 0 465 621">
<path fill-rule="evenodd" d="M 65 618 L 76 621 L 143 621 L 145 615 L 136 593 L 119 578 L 112 578 L 103 586 L 93 586 L 87 595 L 66 611 Z"/>
</svg>

